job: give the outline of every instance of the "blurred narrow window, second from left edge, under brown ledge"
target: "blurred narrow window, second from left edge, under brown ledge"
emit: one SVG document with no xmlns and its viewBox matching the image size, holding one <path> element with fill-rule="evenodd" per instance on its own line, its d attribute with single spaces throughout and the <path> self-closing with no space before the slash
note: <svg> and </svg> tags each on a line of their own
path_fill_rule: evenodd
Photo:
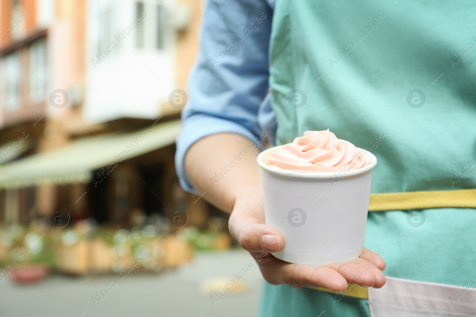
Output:
<svg viewBox="0 0 476 317">
<path fill-rule="evenodd" d="M 47 77 L 46 39 L 30 46 L 30 100 L 42 101 L 46 93 Z"/>
</svg>

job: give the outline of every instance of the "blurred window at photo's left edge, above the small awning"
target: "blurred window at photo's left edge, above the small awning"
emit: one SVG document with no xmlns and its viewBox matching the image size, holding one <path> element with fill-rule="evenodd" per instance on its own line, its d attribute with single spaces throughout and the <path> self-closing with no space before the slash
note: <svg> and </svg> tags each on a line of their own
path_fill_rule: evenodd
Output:
<svg viewBox="0 0 476 317">
<path fill-rule="evenodd" d="M 15 53 L 2 58 L 3 108 L 12 111 L 20 106 L 21 61 Z"/>
</svg>

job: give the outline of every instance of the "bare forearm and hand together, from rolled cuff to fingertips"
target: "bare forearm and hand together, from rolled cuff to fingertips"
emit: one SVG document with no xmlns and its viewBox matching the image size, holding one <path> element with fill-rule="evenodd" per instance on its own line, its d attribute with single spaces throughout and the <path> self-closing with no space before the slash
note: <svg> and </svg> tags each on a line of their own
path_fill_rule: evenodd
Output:
<svg viewBox="0 0 476 317">
<path fill-rule="evenodd" d="M 209 135 L 190 147 L 185 169 L 204 199 L 231 212 L 230 233 L 257 260 L 263 277 L 274 285 L 320 286 L 335 291 L 346 290 L 347 283 L 382 287 L 386 281 L 381 271 L 385 269 L 385 261 L 370 250 L 364 250 L 359 258 L 348 263 L 327 266 L 288 263 L 270 253 L 282 250 L 285 241 L 281 232 L 265 224 L 257 147 L 241 135 Z M 243 153 L 247 154 L 238 161 L 237 154 Z M 223 169 L 231 165 L 230 161 L 235 163 L 234 167 L 225 173 Z M 218 183 L 212 182 L 212 178 Z"/>
</svg>

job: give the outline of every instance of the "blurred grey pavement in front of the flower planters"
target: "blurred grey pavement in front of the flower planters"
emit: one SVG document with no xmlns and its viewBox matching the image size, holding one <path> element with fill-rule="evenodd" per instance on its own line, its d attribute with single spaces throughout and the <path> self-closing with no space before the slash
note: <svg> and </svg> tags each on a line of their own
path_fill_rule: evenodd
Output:
<svg viewBox="0 0 476 317">
<path fill-rule="evenodd" d="M 96 306 L 91 297 L 110 284 L 114 275 L 51 276 L 40 284 L 26 286 L 5 279 L 0 281 L 0 316 L 252 317 L 256 316 L 262 284 L 257 267 L 243 278 L 248 287 L 246 292 L 228 293 L 215 306 L 211 294 L 201 291 L 205 280 L 236 279 L 233 275 L 244 269 L 251 259 L 248 252 L 242 250 L 198 253 L 191 265 L 177 270 L 126 276 Z"/>
</svg>

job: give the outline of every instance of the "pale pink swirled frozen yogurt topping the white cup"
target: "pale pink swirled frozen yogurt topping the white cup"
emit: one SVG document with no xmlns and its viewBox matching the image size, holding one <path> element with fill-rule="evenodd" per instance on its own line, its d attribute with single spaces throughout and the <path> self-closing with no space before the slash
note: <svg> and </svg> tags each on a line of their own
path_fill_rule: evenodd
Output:
<svg viewBox="0 0 476 317">
<path fill-rule="evenodd" d="M 265 160 L 268 166 L 281 170 L 336 172 L 358 170 L 373 162 L 366 151 L 337 139 L 329 131 L 306 131 L 292 143 L 273 151 Z"/>
</svg>

